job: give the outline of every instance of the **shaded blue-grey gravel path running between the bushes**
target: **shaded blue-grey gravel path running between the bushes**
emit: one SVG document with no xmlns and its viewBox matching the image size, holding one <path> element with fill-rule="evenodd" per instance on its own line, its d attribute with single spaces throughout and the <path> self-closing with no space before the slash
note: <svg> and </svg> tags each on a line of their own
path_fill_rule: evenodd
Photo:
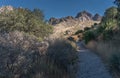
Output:
<svg viewBox="0 0 120 78">
<path fill-rule="evenodd" d="M 97 55 L 84 48 L 81 43 L 78 45 L 82 50 L 78 50 L 77 78 L 112 78 Z"/>
</svg>

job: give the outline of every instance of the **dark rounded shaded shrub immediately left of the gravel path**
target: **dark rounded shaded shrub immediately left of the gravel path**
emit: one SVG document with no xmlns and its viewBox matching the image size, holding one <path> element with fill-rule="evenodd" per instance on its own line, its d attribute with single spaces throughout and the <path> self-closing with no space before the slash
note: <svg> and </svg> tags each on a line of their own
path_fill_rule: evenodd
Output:
<svg viewBox="0 0 120 78">
<path fill-rule="evenodd" d="M 64 40 L 53 42 L 48 48 L 47 60 L 49 65 L 49 78 L 73 77 L 73 70 L 70 71 L 69 66 L 76 63 L 77 55 L 75 48 L 73 48 L 70 43 Z M 50 63 L 52 63 L 53 66 L 51 66 Z"/>
</svg>

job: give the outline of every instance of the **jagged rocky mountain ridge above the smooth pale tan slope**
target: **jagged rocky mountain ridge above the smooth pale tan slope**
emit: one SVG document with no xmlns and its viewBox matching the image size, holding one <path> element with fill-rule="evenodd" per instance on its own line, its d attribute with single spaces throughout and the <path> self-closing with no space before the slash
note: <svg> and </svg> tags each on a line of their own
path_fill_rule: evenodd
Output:
<svg viewBox="0 0 120 78">
<path fill-rule="evenodd" d="M 82 11 L 77 13 L 76 17 L 73 16 L 67 16 L 67 17 L 62 17 L 62 18 L 50 18 L 49 24 L 51 25 L 56 25 L 56 24 L 64 24 L 67 26 L 71 26 L 73 24 L 79 24 L 81 22 L 86 22 L 86 21 L 101 21 L 102 16 L 99 14 L 95 14 L 94 16 L 87 12 L 87 11 Z"/>
</svg>

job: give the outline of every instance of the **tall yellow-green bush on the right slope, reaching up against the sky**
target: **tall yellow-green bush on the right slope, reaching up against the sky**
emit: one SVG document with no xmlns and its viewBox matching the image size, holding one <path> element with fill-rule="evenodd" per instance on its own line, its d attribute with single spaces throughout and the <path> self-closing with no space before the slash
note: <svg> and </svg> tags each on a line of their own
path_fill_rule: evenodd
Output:
<svg viewBox="0 0 120 78">
<path fill-rule="evenodd" d="M 98 27 L 94 30 L 96 37 L 102 34 L 104 40 L 110 40 L 112 38 L 113 30 L 118 28 L 117 14 L 117 7 L 110 7 L 105 11 L 101 23 L 98 24 Z"/>
</svg>

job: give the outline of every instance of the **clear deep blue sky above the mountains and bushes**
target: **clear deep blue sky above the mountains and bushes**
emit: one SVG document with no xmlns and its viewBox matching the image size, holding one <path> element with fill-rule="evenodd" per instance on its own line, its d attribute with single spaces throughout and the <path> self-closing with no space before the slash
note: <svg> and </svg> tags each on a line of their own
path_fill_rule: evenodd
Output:
<svg viewBox="0 0 120 78">
<path fill-rule="evenodd" d="M 114 0 L 0 0 L 0 6 L 12 5 L 23 8 L 40 8 L 45 18 L 76 16 L 80 11 L 86 10 L 92 14 L 104 14 L 105 9 L 114 6 Z"/>
</svg>

